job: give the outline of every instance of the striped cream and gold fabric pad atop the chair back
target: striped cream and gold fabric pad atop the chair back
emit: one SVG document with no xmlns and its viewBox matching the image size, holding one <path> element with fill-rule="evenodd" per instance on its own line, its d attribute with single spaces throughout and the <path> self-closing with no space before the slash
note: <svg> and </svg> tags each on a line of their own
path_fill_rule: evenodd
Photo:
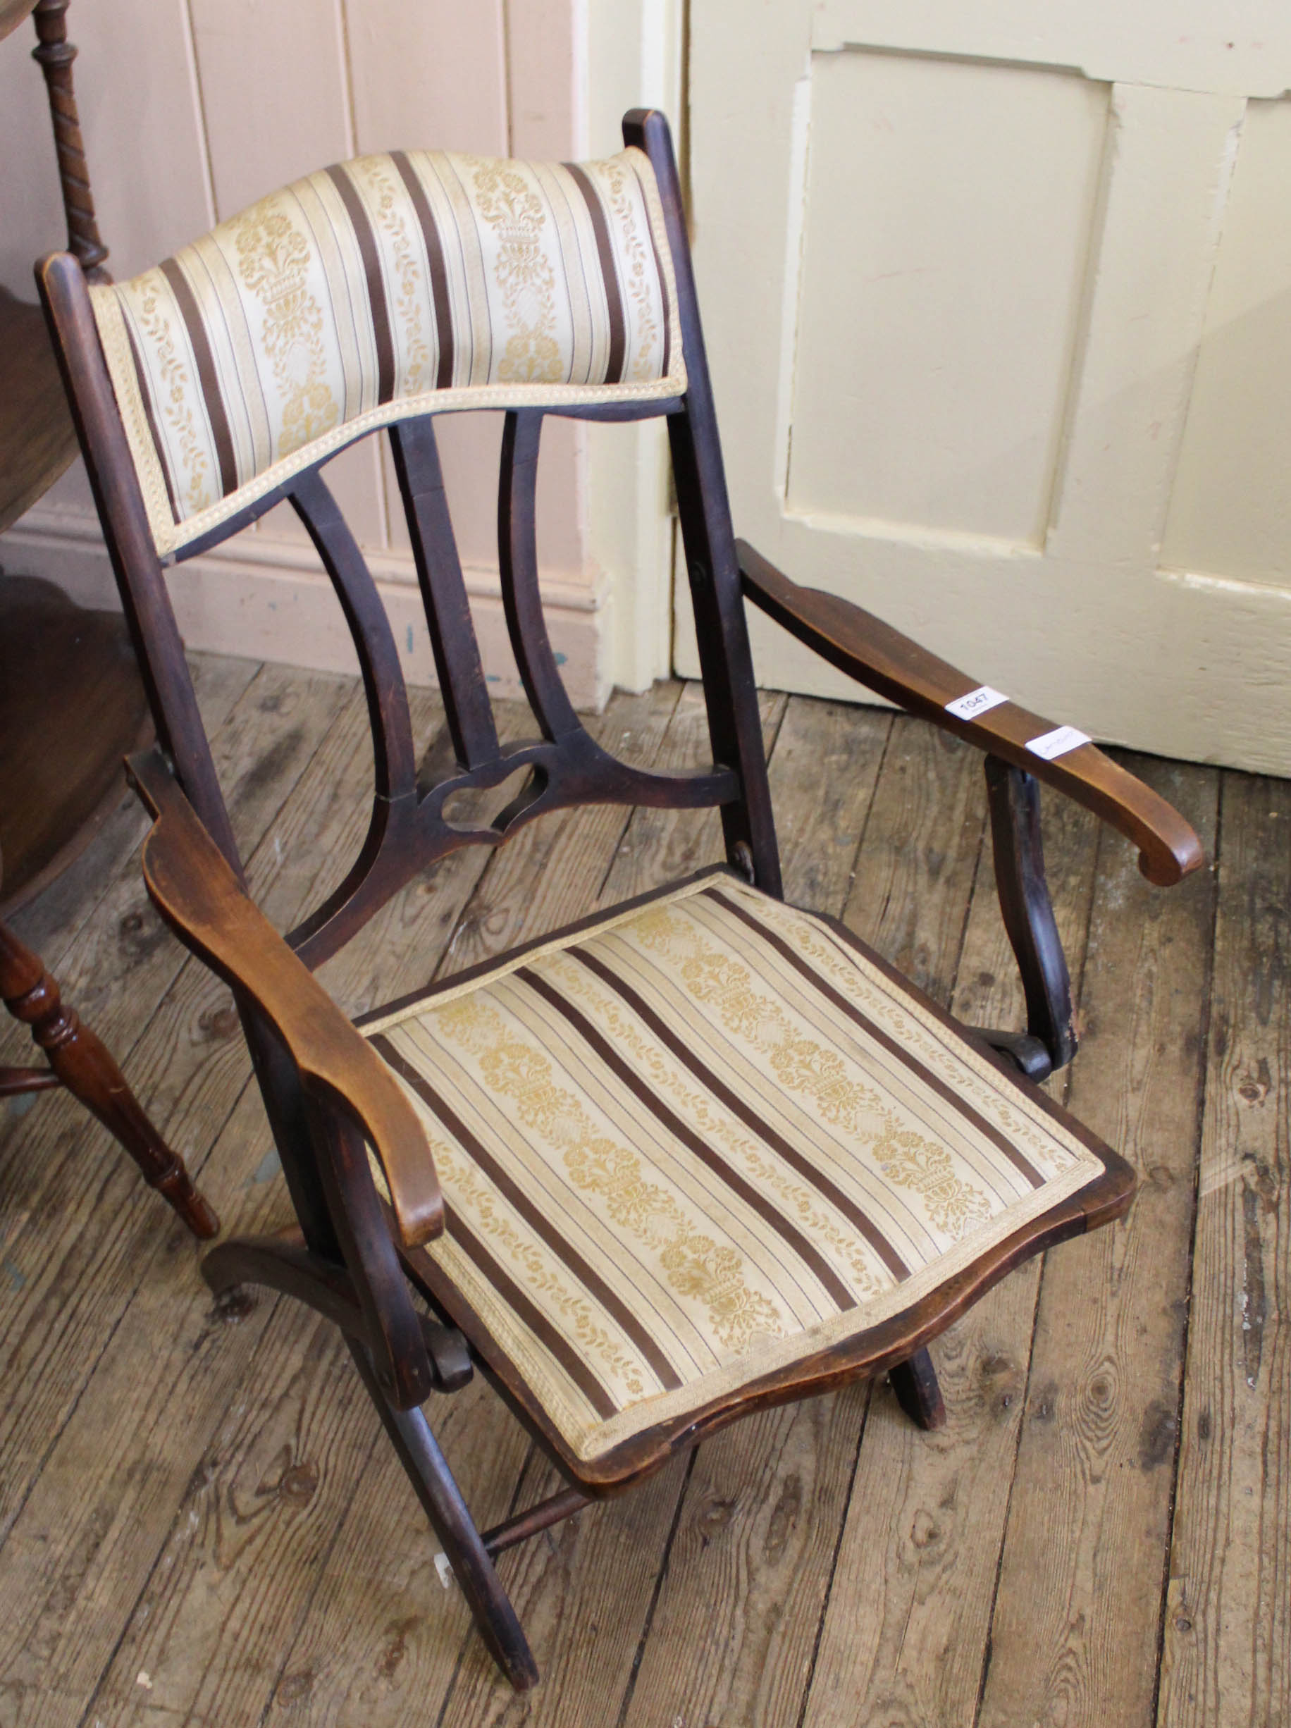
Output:
<svg viewBox="0 0 1291 1728">
<path fill-rule="evenodd" d="M 686 389 L 639 150 L 365 156 L 92 302 L 162 555 L 408 415 Z"/>
</svg>

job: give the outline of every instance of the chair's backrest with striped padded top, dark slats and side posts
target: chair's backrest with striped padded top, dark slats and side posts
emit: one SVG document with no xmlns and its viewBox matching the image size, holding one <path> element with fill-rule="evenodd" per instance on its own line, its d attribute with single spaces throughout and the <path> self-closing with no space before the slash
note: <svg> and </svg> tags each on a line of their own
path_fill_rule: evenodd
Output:
<svg viewBox="0 0 1291 1728">
<path fill-rule="evenodd" d="M 391 152 L 297 180 L 130 282 L 38 266 L 157 738 L 219 850 L 240 854 L 164 569 L 285 501 L 349 627 L 368 702 L 368 833 L 290 931 L 321 964 L 406 881 L 563 805 L 719 807 L 728 855 L 779 892 L 741 575 L 676 157 L 662 114 L 596 162 Z M 537 736 L 506 743 L 453 532 L 442 411 L 503 410 L 498 577 Z M 537 467 L 548 416 L 667 427 L 712 762 L 619 760 L 574 710 L 543 612 Z M 384 598 L 323 465 L 373 432 L 422 593 L 446 736 L 415 736 Z M 491 819 L 461 791 L 524 785 Z M 479 798 L 470 800 L 479 805 Z M 266 1058 L 268 1059 L 268 1058 Z M 277 1085 L 277 1082 L 275 1082 Z M 287 1083 L 283 1082 L 283 1087 Z M 292 1106 L 294 1108 L 294 1106 Z"/>
</svg>

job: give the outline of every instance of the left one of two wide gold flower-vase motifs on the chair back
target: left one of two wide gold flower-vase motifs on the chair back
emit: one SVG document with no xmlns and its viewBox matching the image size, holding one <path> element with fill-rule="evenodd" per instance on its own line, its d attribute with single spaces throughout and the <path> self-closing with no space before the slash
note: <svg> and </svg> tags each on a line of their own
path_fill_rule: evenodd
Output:
<svg viewBox="0 0 1291 1728">
<path fill-rule="evenodd" d="M 309 292 L 309 242 L 263 199 L 235 219 L 233 244 L 242 282 L 264 313 L 261 342 L 282 397 L 278 454 L 290 456 L 340 418 L 327 382 L 323 308 Z"/>
</svg>

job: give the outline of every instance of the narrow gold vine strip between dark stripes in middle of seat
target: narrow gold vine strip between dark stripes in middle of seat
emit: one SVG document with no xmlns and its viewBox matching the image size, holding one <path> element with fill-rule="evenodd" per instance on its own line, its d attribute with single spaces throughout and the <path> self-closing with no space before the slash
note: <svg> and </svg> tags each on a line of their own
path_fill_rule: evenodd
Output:
<svg viewBox="0 0 1291 1728">
<path fill-rule="evenodd" d="M 677 1063 L 653 1040 L 645 1039 L 629 1016 L 593 983 L 581 966 L 556 961 L 553 969 L 558 973 L 562 992 L 570 1001 L 582 1001 L 591 1007 L 596 1023 L 631 1054 L 638 1073 L 646 1077 L 660 1096 L 669 1097 L 712 1146 L 721 1146 L 738 1168 L 755 1178 L 767 1192 L 774 1192 L 788 1217 L 797 1218 L 812 1237 L 830 1248 L 835 1261 L 847 1267 L 852 1287 L 859 1296 L 874 1294 L 894 1282 L 890 1274 L 880 1272 L 871 1263 L 861 1237 L 842 1229 L 805 1184 L 793 1180 L 785 1165 L 760 1151 L 752 1135 L 745 1134 L 724 1111 L 715 1109 L 710 1099 L 686 1080 Z"/>
</svg>

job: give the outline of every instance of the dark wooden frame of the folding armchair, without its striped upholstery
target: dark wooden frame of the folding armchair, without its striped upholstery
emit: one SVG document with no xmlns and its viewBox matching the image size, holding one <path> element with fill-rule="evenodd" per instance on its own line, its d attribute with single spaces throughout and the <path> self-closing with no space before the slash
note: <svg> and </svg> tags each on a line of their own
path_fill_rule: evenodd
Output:
<svg viewBox="0 0 1291 1728">
<path fill-rule="evenodd" d="M 745 1412 L 849 1379 L 890 1370 L 904 1407 L 933 1426 L 942 1408 L 928 1341 L 1020 1260 L 1120 1215 L 1134 1177 L 1115 1154 L 1104 1156 L 1104 1172 L 1091 1187 L 1014 1232 L 899 1320 L 873 1329 L 864 1344 L 852 1341 L 769 1374 L 681 1434 L 638 1434 L 615 1448 L 610 1464 L 596 1460 L 574 1471 L 525 1388 L 489 1363 L 487 1339 L 468 1318 L 453 1315 L 451 1293 L 429 1272 L 429 1258 L 418 1255 L 420 1244 L 442 1227 L 442 1201 L 420 1125 L 391 1070 L 335 1009 L 311 968 L 436 859 L 463 845 L 499 845 L 525 823 L 570 804 L 715 805 L 731 867 L 779 895 L 745 596 L 861 683 L 987 753 L 1001 904 L 1028 1009 L 1027 1033 L 985 1033 L 983 1047 L 1002 1052 L 999 1066 L 1037 1077 L 1068 1061 L 1075 1049 L 1066 966 L 1044 881 L 1035 781 L 1047 781 L 1118 826 L 1141 848 L 1141 866 L 1153 881 L 1177 881 L 1201 862 L 1191 828 L 1094 746 L 1044 762 L 1025 743 L 1051 722 L 1013 705 L 968 722 L 954 719 L 945 703 L 975 688 L 973 679 L 857 608 L 797 588 L 736 541 L 667 123 L 653 111 L 633 111 L 624 119 L 624 140 L 645 150 L 658 181 L 677 276 L 688 389 L 669 401 L 562 411 L 601 420 L 667 418 L 714 766 L 677 774 L 629 767 L 593 741 L 569 702 L 543 622 L 534 548 L 539 437 L 544 413 L 555 410 L 508 411 L 505 423 L 501 586 L 541 736 L 499 745 L 434 422 L 427 415 L 396 423 L 389 437 L 455 757 L 446 778 L 436 779 L 427 764 L 418 769 L 391 627 L 318 467 L 180 553 L 202 551 L 285 498 L 318 550 L 358 650 L 375 753 L 372 819 L 342 885 L 285 940 L 245 893 L 83 275 L 67 256 L 47 259 L 38 271 L 157 726 L 159 750 L 131 760 L 137 790 L 157 817 L 145 847 L 149 890 L 181 940 L 233 988 L 299 1220 L 297 1229 L 278 1237 L 221 1244 L 204 1261 L 206 1279 L 216 1291 L 245 1280 L 289 1291 L 340 1327 L 479 1630 L 517 1688 L 532 1685 L 537 1669 L 498 1581 L 494 1557 L 501 1550 L 591 1498 L 626 1488 Z M 520 767 L 529 769 L 525 790 L 489 826 L 446 821 L 444 805 L 455 791 L 496 786 Z M 380 1159 L 389 1206 L 372 1178 L 365 1142 Z M 415 1310 L 410 1280 L 434 1320 Z M 569 1479 L 562 1493 L 486 1533 L 472 1522 L 420 1408 L 432 1391 L 463 1384 L 472 1365 L 489 1375 Z"/>
</svg>

